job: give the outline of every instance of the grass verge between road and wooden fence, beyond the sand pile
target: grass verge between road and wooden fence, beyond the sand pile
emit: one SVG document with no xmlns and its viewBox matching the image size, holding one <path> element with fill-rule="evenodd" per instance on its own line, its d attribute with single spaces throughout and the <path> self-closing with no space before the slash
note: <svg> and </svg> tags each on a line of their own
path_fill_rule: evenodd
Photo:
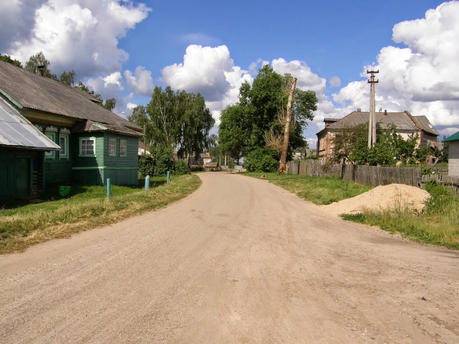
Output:
<svg viewBox="0 0 459 344">
<path fill-rule="evenodd" d="M 372 189 L 371 186 L 358 185 L 348 180 L 331 177 L 309 177 L 295 174 L 244 172 L 246 176 L 266 179 L 317 205 L 328 205 L 333 202 L 355 197 Z M 261 178 L 265 175 L 266 178 Z"/>
</svg>

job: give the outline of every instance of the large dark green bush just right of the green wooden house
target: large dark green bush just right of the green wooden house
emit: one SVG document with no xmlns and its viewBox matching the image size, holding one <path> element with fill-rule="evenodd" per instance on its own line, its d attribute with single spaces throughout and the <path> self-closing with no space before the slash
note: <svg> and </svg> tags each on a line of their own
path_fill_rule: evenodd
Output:
<svg viewBox="0 0 459 344">
<path fill-rule="evenodd" d="M 150 148 L 150 154 L 142 153 L 139 158 L 139 173 L 145 176 L 163 176 L 173 167 L 172 148 L 157 146 Z"/>
</svg>

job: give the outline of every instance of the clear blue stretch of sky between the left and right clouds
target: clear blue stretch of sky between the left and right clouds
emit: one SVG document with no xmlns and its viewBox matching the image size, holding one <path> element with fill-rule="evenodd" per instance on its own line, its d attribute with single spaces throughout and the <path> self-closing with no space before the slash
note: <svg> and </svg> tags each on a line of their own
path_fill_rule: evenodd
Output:
<svg viewBox="0 0 459 344">
<path fill-rule="evenodd" d="M 356 79 L 375 62 L 381 47 L 394 44 L 397 22 L 424 17 L 442 1 L 144 1 L 152 11 L 120 41 L 126 67 L 145 66 L 154 75 L 181 62 L 189 44 L 226 45 L 235 64 L 306 61 L 324 78 Z M 402 4 L 401 4 L 402 3 Z M 191 36 L 191 37 L 187 37 Z M 192 37 L 195 36 L 195 37 Z"/>
</svg>

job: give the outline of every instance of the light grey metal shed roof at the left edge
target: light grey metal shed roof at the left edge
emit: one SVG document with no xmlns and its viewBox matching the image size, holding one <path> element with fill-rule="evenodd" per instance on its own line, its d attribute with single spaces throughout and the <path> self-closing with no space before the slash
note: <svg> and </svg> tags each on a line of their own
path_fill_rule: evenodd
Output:
<svg viewBox="0 0 459 344">
<path fill-rule="evenodd" d="M 45 151 L 60 149 L 2 98 L 0 98 L 0 146 Z"/>
</svg>

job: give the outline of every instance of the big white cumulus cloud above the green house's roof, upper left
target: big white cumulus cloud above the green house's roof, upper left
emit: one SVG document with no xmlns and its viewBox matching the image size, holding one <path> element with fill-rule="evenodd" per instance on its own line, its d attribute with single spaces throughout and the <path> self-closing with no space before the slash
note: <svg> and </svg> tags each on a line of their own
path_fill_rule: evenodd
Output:
<svg viewBox="0 0 459 344">
<path fill-rule="evenodd" d="M 17 6 L 8 11 L 9 20 L 21 23 L 25 14 L 28 24 L 8 42 L 0 40 L 6 52 L 25 62 L 41 50 L 53 72 L 73 69 L 80 78 L 119 71 L 129 54 L 118 48 L 118 39 L 151 11 L 145 4 L 122 0 L 12 2 Z M 28 3 L 34 5 L 32 13 Z"/>
</svg>

